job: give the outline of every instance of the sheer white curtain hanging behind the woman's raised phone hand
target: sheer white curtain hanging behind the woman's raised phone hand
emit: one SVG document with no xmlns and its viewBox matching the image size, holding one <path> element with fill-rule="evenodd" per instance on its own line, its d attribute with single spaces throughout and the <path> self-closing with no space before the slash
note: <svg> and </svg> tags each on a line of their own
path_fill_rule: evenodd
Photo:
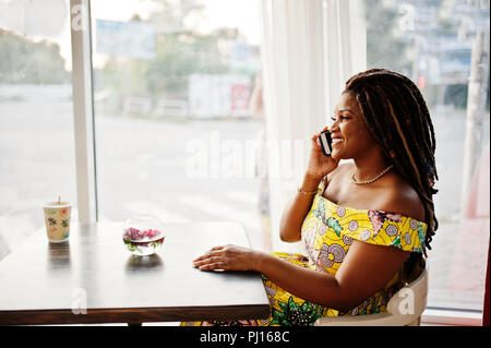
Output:
<svg viewBox="0 0 491 348">
<path fill-rule="evenodd" d="M 263 97 L 273 249 L 285 205 L 301 184 L 310 137 L 333 113 L 344 83 L 366 68 L 360 0 L 262 0 Z"/>
</svg>

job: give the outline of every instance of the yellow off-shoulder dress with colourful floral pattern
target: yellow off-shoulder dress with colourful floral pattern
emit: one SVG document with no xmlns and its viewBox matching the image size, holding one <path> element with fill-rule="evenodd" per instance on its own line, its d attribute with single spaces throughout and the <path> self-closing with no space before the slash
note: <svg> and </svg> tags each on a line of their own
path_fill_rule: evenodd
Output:
<svg viewBox="0 0 491 348">
<path fill-rule="evenodd" d="M 335 275 L 343 263 L 354 239 L 370 244 L 395 247 L 421 253 L 424 247 L 427 224 L 382 211 L 356 209 L 337 205 L 322 195 L 324 181 L 314 196 L 307 215 L 301 236 L 307 256 L 277 253 L 272 255 L 301 267 Z M 391 297 L 404 285 L 406 265 L 378 292 L 351 311 L 342 313 L 302 300 L 285 291 L 263 275 L 264 288 L 271 302 L 268 319 L 237 322 L 193 322 L 182 325 L 313 325 L 322 316 L 360 315 L 383 312 Z"/>
</svg>

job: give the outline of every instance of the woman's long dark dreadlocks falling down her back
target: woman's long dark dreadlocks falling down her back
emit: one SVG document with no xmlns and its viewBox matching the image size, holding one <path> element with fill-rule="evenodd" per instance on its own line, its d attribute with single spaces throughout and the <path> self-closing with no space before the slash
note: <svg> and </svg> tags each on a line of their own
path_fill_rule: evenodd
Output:
<svg viewBox="0 0 491 348">
<path fill-rule="evenodd" d="M 433 124 L 420 91 L 399 73 L 371 69 L 349 79 L 344 93 L 356 96 L 364 123 L 382 146 L 386 160 L 423 203 L 428 230 L 422 247 L 427 256 L 439 226 L 432 197 L 438 192 L 433 184 L 439 177 Z"/>
</svg>

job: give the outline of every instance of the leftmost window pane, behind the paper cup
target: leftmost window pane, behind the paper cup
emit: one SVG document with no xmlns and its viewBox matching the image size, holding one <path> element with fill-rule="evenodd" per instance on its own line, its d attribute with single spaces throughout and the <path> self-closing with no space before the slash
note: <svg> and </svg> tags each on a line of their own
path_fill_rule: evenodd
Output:
<svg viewBox="0 0 491 348">
<path fill-rule="evenodd" d="M 0 259 L 76 202 L 74 155 L 69 2 L 0 1 Z"/>
</svg>

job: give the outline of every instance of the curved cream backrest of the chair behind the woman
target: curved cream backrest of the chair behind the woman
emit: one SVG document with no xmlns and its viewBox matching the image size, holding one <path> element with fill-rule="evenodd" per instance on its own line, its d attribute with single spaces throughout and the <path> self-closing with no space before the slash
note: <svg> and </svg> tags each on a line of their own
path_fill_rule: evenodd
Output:
<svg viewBox="0 0 491 348">
<path fill-rule="evenodd" d="M 393 315 L 421 316 L 427 308 L 428 299 L 428 264 L 424 264 L 421 274 L 410 284 L 397 291 L 387 303 L 387 312 Z"/>
</svg>

